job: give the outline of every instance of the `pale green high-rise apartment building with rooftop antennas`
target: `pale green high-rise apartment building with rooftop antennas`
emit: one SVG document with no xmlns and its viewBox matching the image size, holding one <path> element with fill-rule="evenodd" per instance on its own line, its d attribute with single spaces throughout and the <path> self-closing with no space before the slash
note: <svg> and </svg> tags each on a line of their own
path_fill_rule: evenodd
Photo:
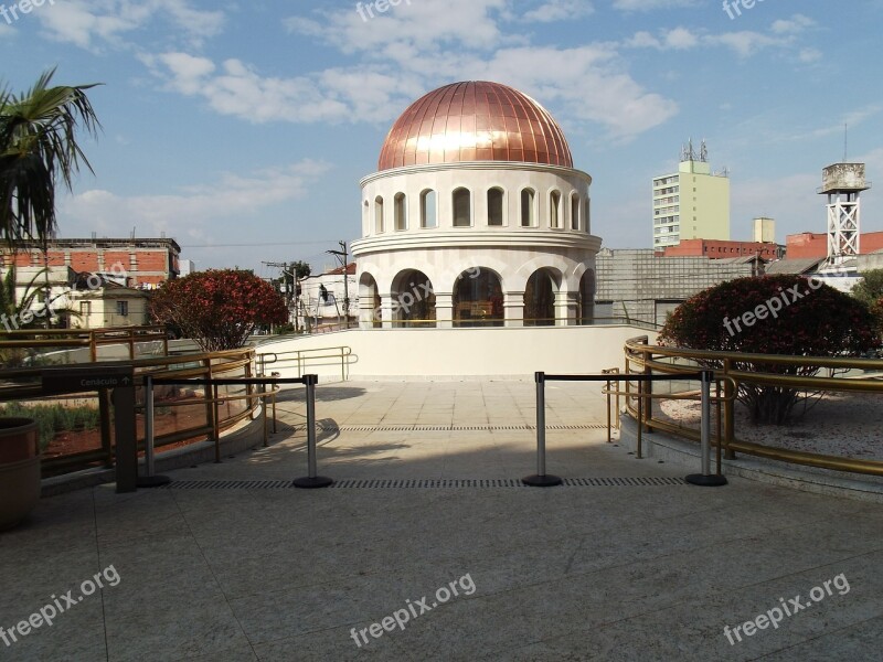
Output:
<svg viewBox="0 0 883 662">
<path fill-rule="evenodd" d="M 653 248 L 681 239 L 730 239 L 730 177 L 712 172 L 704 140 L 690 141 L 678 172 L 653 178 Z"/>
</svg>

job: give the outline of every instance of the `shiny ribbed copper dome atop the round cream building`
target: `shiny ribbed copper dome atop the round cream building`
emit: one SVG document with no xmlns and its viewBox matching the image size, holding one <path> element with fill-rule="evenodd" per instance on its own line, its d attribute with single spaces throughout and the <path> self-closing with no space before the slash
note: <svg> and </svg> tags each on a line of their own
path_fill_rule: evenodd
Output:
<svg viewBox="0 0 883 662">
<path fill-rule="evenodd" d="M 469 81 L 414 102 L 390 129 L 377 170 L 464 161 L 573 168 L 564 132 L 545 108 L 507 85 Z"/>
</svg>

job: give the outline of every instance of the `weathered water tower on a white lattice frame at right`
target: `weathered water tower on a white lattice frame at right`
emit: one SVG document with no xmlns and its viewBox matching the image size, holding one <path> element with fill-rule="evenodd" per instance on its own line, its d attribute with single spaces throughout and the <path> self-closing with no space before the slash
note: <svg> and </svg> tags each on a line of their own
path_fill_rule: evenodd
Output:
<svg viewBox="0 0 883 662">
<path fill-rule="evenodd" d="M 828 260 L 840 266 L 859 255 L 861 228 L 860 193 L 871 188 L 864 179 L 864 163 L 834 163 L 822 170 L 820 195 L 828 195 Z"/>
</svg>

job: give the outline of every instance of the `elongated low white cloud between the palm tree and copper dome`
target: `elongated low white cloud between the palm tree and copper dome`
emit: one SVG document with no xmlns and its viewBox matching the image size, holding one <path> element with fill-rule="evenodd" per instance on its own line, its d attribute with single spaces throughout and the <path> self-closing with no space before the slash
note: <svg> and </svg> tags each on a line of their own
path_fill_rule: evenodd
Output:
<svg viewBox="0 0 883 662">
<path fill-rule="evenodd" d="M 140 232 L 159 235 L 180 227 L 187 218 L 188 234 L 204 237 L 208 222 L 247 220 L 265 207 L 305 197 L 309 186 L 328 172 L 327 163 L 304 160 L 268 168 L 247 175 L 226 173 L 217 181 L 182 188 L 177 193 L 123 196 L 89 190 L 68 197 L 61 209 L 63 225 L 79 232 L 117 234 L 120 222 Z"/>
</svg>

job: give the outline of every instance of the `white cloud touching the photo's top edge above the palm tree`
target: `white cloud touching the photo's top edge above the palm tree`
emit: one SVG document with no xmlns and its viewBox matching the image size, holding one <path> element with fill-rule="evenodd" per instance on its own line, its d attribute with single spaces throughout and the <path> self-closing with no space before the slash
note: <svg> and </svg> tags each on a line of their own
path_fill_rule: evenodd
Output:
<svg viewBox="0 0 883 662">
<path fill-rule="evenodd" d="M 51 39 L 89 50 L 123 46 L 128 33 L 160 19 L 192 43 L 219 34 L 224 23 L 222 12 L 193 9 L 187 0 L 65 0 L 34 15 Z"/>
</svg>

